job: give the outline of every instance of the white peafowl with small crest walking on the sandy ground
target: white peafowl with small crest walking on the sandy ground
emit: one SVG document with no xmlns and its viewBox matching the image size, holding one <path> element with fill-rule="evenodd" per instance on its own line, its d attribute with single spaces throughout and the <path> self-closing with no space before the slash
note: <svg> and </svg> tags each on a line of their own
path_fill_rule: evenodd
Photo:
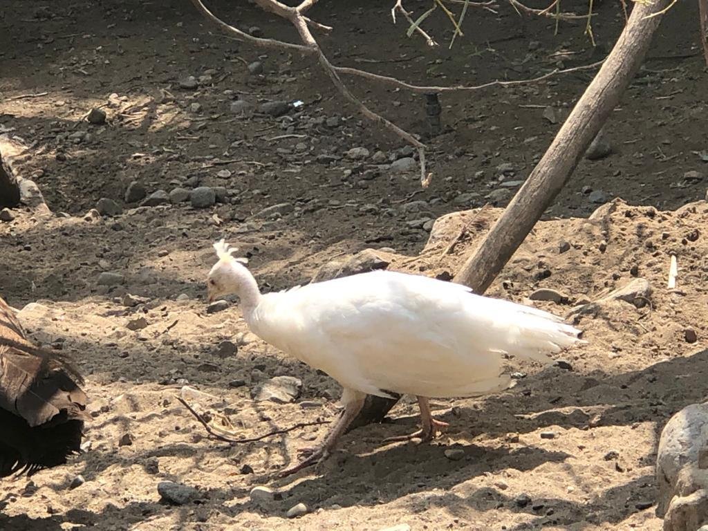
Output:
<svg viewBox="0 0 708 531">
<path fill-rule="evenodd" d="M 214 248 L 210 302 L 238 295 L 253 333 L 343 387 L 344 410 L 324 442 L 301 450 L 307 458 L 281 476 L 329 455 L 367 394 L 417 396 L 421 430 L 389 440 L 430 440 L 447 424 L 431 416 L 428 398 L 500 391 L 510 384 L 504 355 L 545 363 L 581 341 L 552 314 L 421 275 L 373 271 L 261 295 L 236 249 L 224 240 Z"/>
</svg>

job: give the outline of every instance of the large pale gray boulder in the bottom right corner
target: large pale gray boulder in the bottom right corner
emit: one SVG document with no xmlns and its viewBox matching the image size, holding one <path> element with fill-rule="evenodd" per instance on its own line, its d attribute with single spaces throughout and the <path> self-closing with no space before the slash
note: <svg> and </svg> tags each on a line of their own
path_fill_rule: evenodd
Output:
<svg viewBox="0 0 708 531">
<path fill-rule="evenodd" d="M 656 515 L 666 531 L 708 522 L 708 404 L 691 404 L 670 418 L 656 456 Z"/>
</svg>

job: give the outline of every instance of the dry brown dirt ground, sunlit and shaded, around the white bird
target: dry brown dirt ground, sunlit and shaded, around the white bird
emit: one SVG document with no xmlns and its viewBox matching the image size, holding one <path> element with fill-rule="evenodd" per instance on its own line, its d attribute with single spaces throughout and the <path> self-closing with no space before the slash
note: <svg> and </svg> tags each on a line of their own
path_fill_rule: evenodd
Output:
<svg viewBox="0 0 708 531">
<path fill-rule="evenodd" d="M 333 60 L 442 85 L 526 79 L 602 57 L 581 23 L 562 23 L 554 35 L 553 21 L 522 18 L 508 6 L 497 15 L 472 11 L 452 51 L 446 44 L 431 51 L 392 25 L 388 4 L 316 6 L 312 16 L 336 28 L 322 38 Z M 21 319 L 37 341 L 76 357 L 93 421 L 84 455 L 0 484 L 0 529 L 660 529 L 652 507 L 658 432 L 668 416 L 704 399 L 708 363 L 701 156 L 708 158 L 708 101 L 693 4 L 670 12 L 613 113 L 607 135 L 615 153 L 582 161 L 489 291 L 523 301 L 549 287 L 567 302 L 532 304 L 566 315 L 639 276 L 654 289 L 647 304 L 585 307 L 577 319 L 588 344 L 564 354 L 572 370 L 521 367 L 508 392 L 434 401 L 451 426 L 433 444 L 382 443 L 416 425 L 416 407 L 404 401 L 391 423 L 347 435 L 323 469 L 275 480 L 273 472 L 326 426 L 232 446 L 207 437 L 176 400 L 179 389 L 218 396 L 239 435 L 253 437 L 331 419 L 338 387 L 251 341 L 237 304 L 206 314 L 211 242 L 227 236 L 239 245 L 263 290 L 307 282 L 324 263 L 367 247 L 384 248 L 395 269 L 455 273 L 501 210 L 479 215 L 451 253 L 447 244 L 473 214 L 438 224 L 423 251 L 426 221 L 479 207 L 489 193 L 503 206 L 559 127 L 544 108 L 567 108 L 591 74 L 442 97 L 445 130 L 429 140 L 435 177 L 421 191 L 415 171 L 382 164 L 403 146 L 342 105 L 316 67 L 223 38 L 186 0 L 3 0 L 0 130 L 30 146 L 18 171 L 66 215 L 13 210 L 13 222 L 0 222 L 0 296 L 18 308 L 37 303 Z M 240 27 L 294 38 L 246 2 L 214 8 Z M 622 12 L 613 3 L 598 10 L 595 38 L 608 49 Z M 444 16 L 427 27 L 449 40 Z M 249 73 L 257 60 L 263 74 Z M 187 76 L 205 75 L 196 88 L 180 87 Z M 353 86 L 373 108 L 425 135 L 421 96 Z M 231 111 L 237 98 L 256 108 L 275 100 L 304 105 L 277 119 L 241 116 Z M 105 125 L 83 120 L 96 106 L 108 115 Z M 274 139 L 281 135 L 297 136 Z M 348 159 L 353 147 L 370 156 Z M 148 193 L 223 186 L 227 200 L 206 209 L 137 207 L 124 202 L 131 181 Z M 124 213 L 85 217 L 104 197 Z M 588 221 L 615 197 L 627 204 L 614 202 Z M 259 215 L 273 205 L 278 212 Z M 678 292 L 666 289 L 670 253 L 678 256 Z M 124 282 L 98 285 L 103 271 Z M 130 305 L 126 294 L 142 298 Z M 225 340 L 237 353 L 219 350 Z M 302 380 L 299 398 L 253 401 L 252 389 L 277 375 Z M 445 457 L 450 447 L 464 450 L 462 459 Z M 71 488 L 79 475 L 85 482 Z M 164 480 L 196 487 L 198 499 L 161 502 L 156 485 Z M 277 499 L 252 501 L 258 485 Z M 297 503 L 308 513 L 286 518 Z"/>
</svg>

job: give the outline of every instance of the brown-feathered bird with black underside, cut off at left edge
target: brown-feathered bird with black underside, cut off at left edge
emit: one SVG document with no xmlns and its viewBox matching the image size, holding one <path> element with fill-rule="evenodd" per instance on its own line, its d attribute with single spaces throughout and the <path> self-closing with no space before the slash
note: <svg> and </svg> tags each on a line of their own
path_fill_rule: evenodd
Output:
<svg viewBox="0 0 708 531">
<path fill-rule="evenodd" d="M 66 355 L 38 348 L 0 298 L 0 477 L 34 474 L 80 451 L 83 379 Z"/>
</svg>

